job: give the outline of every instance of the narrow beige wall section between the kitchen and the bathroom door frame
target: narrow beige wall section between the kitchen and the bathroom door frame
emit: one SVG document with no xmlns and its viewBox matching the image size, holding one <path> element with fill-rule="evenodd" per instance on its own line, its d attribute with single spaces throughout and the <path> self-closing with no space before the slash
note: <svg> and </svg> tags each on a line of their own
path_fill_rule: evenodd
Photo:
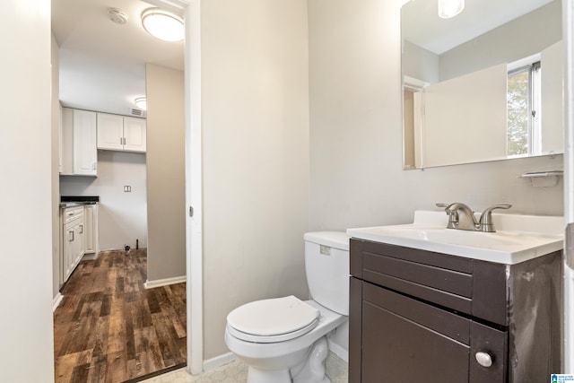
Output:
<svg viewBox="0 0 574 383">
<path fill-rule="evenodd" d="M 184 73 L 145 65 L 148 282 L 186 274 Z"/>
</svg>

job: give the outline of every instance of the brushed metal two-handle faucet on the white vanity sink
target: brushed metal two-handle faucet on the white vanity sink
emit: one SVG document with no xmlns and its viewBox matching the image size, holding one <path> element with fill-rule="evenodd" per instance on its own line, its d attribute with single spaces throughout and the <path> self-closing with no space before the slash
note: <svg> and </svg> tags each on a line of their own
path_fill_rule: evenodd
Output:
<svg viewBox="0 0 574 383">
<path fill-rule="evenodd" d="M 455 202 L 454 204 L 437 204 L 444 207 L 448 215 L 447 229 L 458 229 L 466 231 L 486 231 L 495 232 L 492 222 L 492 210 L 509 209 L 512 205 L 491 205 L 483 214 L 479 221 L 476 221 L 473 210 L 465 204 Z"/>
</svg>

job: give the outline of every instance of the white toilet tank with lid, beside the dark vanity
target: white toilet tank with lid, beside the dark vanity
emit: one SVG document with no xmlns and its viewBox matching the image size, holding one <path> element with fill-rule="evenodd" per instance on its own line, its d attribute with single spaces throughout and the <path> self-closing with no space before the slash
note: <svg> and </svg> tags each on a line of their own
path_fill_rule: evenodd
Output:
<svg viewBox="0 0 574 383">
<path fill-rule="evenodd" d="M 349 237 L 344 231 L 317 231 L 303 238 L 311 298 L 327 309 L 349 315 Z"/>
</svg>

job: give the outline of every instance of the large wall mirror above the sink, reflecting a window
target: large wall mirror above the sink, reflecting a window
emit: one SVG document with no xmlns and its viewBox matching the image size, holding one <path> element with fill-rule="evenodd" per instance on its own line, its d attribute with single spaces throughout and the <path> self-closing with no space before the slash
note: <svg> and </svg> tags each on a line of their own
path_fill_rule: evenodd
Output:
<svg viewBox="0 0 574 383">
<path fill-rule="evenodd" d="M 401 9 L 404 169 L 563 152 L 560 0 Z"/>
</svg>

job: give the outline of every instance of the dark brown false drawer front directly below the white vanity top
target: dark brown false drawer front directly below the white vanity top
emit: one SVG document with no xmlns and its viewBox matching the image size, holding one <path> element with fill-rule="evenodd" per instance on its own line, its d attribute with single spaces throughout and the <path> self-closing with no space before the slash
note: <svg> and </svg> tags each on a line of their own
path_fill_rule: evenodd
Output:
<svg viewBox="0 0 574 383">
<path fill-rule="evenodd" d="M 508 326 L 505 265 L 359 239 L 351 248 L 353 276 Z"/>
</svg>

